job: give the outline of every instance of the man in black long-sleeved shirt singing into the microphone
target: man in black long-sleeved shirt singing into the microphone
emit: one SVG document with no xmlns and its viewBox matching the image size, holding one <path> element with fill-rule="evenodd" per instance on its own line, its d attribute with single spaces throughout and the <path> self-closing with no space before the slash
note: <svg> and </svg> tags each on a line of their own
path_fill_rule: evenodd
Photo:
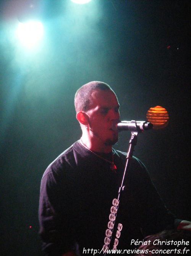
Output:
<svg viewBox="0 0 191 256">
<path fill-rule="evenodd" d="M 126 164 L 126 153 L 112 148 L 118 141 L 112 126 L 120 119 L 120 105 L 110 86 L 87 83 L 78 89 L 74 102 L 82 137 L 49 165 L 41 181 L 40 237 L 47 256 L 80 255 L 88 249 L 102 254 L 110 208 Z M 167 210 L 136 157 L 124 184 L 117 249 L 131 249 L 132 239 L 141 241 L 166 228 L 190 228 L 190 222 Z"/>
</svg>

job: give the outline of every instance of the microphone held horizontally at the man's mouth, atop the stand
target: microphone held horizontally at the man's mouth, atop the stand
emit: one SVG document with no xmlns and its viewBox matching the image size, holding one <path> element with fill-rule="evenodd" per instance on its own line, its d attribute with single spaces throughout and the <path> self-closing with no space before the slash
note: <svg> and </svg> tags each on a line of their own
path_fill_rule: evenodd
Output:
<svg viewBox="0 0 191 256">
<path fill-rule="evenodd" d="M 146 121 L 114 121 L 112 130 L 120 132 L 121 130 L 129 130 L 131 132 L 142 132 L 152 129 L 152 123 Z"/>
</svg>

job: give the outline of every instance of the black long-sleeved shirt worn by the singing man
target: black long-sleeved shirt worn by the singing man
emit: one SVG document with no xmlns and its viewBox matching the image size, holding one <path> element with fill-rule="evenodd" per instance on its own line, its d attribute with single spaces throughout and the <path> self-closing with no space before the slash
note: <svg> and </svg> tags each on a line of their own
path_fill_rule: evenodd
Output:
<svg viewBox="0 0 191 256">
<path fill-rule="evenodd" d="M 112 161 L 112 153 L 101 154 Z M 45 255 L 60 256 L 74 249 L 101 251 L 110 208 L 118 197 L 126 154 L 113 149 L 111 164 L 75 142 L 45 171 L 40 187 L 40 237 Z M 131 248 L 131 239 L 174 228 L 175 216 L 167 210 L 146 167 L 133 157 L 121 196 L 118 221 L 123 225 L 117 249 Z M 85 251 L 84 251 L 85 252 Z"/>
</svg>

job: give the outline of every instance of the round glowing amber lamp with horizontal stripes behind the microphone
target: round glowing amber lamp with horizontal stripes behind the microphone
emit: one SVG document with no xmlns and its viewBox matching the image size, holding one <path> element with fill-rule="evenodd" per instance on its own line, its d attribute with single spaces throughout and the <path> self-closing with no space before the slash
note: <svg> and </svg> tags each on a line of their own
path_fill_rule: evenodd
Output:
<svg viewBox="0 0 191 256">
<path fill-rule="evenodd" d="M 147 111 L 147 121 L 153 124 L 153 129 L 162 129 L 168 124 L 168 112 L 166 109 L 160 106 L 151 107 Z"/>
</svg>

